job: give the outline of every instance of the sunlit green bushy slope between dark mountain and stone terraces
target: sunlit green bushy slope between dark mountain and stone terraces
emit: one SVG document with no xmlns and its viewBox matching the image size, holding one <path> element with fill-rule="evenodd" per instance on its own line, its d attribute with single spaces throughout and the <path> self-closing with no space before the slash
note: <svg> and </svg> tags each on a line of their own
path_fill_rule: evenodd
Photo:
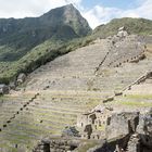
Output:
<svg viewBox="0 0 152 152">
<path fill-rule="evenodd" d="M 16 79 L 20 73 L 30 73 L 40 65 L 54 60 L 59 55 L 63 55 L 79 47 L 87 46 L 90 41 L 86 38 L 77 38 L 71 41 L 47 40 L 35 47 L 18 61 L 0 62 L 0 83 L 9 84 Z"/>
</svg>

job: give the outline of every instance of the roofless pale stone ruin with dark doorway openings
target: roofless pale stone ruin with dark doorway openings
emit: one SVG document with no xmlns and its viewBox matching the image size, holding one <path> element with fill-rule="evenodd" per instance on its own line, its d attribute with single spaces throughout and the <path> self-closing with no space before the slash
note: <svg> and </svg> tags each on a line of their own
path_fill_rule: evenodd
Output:
<svg viewBox="0 0 152 152">
<path fill-rule="evenodd" d="M 80 129 L 83 139 L 103 139 L 105 137 L 105 125 L 112 109 L 97 106 L 90 113 L 77 117 L 77 127 Z"/>
</svg>

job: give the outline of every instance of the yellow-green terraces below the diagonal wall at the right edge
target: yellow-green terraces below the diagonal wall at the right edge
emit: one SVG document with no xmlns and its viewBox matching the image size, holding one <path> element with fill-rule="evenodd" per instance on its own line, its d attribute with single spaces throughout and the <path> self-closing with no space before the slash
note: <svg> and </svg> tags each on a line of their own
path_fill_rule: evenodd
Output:
<svg viewBox="0 0 152 152">
<path fill-rule="evenodd" d="M 126 89 L 123 96 L 117 96 L 111 103 L 105 105 L 112 105 L 117 111 L 137 111 L 145 113 L 152 107 L 152 77 L 145 79 L 140 84 L 132 85 L 129 89 Z"/>
</svg>

